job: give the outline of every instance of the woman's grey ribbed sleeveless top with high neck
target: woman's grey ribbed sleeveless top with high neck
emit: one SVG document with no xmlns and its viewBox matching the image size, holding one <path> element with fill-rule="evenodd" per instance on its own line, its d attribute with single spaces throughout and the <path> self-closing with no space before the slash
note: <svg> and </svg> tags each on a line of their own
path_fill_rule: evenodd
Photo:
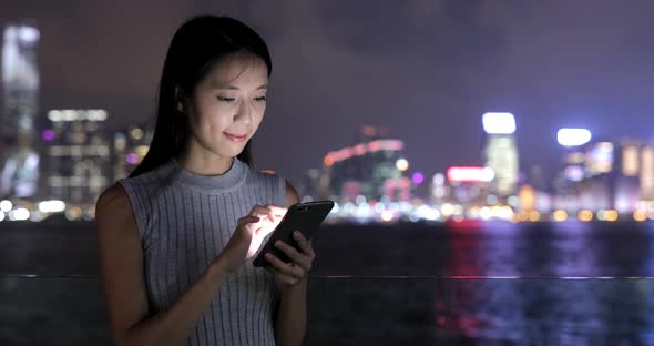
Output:
<svg viewBox="0 0 654 346">
<path fill-rule="evenodd" d="M 143 247 L 151 314 L 165 309 L 227 244 L 255 204 L 284 205 L 285 180 L 234 160 L 219 176 L 196 175 L 174 160 L 123 179 Z M 198 319 L 187 345 L 275 345 L 274 277 L 248 262 L 229 275 Z"/>
</svg>

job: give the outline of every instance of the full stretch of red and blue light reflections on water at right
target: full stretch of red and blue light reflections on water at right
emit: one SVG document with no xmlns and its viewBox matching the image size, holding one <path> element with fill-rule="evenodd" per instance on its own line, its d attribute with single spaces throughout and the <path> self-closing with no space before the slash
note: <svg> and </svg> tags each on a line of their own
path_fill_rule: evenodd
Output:
<svg viewBox="0 0 654 346">
<path fill-rule="evenodd" d="M 471 345 L 654 345 L 654 281 L 626 278 L 654 276 L 651 225 L 450 231 L 459 236 L 447 240 L 444 268 L 460 275 L 437 303 L 441 336 Z M 518 279 L 498 278 L 509 276 Z"/>
</svg>

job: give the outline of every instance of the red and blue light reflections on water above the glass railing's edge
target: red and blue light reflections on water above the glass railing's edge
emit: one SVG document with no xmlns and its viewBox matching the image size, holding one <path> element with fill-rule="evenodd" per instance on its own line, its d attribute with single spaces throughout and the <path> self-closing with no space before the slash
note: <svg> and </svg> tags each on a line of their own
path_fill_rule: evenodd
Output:
<svg viewBox="0 0 654 346">
<path fill-rule="evenodd" d="M 652 224 L 486 223 L 442 241 L 456 275 L 654 277 Z"/>
</svg>

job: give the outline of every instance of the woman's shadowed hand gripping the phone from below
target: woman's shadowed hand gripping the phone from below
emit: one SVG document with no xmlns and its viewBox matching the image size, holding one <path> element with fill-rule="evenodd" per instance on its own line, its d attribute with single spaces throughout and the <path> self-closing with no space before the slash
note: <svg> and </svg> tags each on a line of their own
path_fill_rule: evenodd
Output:
<svg viewBox="0 0 654 346">
<path fill-rule="evenodd" d="M 316 258 L 311 241 L 305 238 L 298 231 L 293 233 L 293 237 L 299 245 L 300 251 L 295 250 L 295 247 L 283 241 L 277 241 L 275 243 L 275 247 L 286 254 L 288 258 L 290 258 L 290 263 L 284 263 L 270 253 L 266 254 L 266 260 L 272 264 L 272 266 L 266 267 L 266 269 L 275 274 L 275 276 L 286 286 L 293 286 L 306 279 L 314 264 L 314 260 Z"/>
</svg>

